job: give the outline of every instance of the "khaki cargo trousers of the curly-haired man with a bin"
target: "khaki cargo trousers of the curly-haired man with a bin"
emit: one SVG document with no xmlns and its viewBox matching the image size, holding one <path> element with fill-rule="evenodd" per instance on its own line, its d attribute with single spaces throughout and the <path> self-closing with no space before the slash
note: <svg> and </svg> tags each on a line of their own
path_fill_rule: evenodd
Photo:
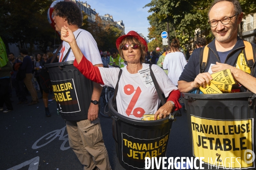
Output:
<svg viewBox="0 0 256 170">
<path fill-rule="evenodd" d="M 84 165 L 84 170 L 111 170 L 99 118 L 94 121 L 67 121 L 66 124 L 70 147 Z"/>
</svg>

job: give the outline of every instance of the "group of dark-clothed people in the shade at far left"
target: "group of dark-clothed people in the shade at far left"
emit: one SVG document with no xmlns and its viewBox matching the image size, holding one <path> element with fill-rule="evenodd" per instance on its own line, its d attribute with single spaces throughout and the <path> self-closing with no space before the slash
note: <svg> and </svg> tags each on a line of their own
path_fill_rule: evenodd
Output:
<svg viewBox="0 0 256 170">
<path fill-rule="evenodd" d="M 43 98 L 46 116 L 51 116 L 48 108 L 48 94 L 52 91 L 49 84 L 47 85 L 48 91 L 45 90 L 44 75 L 41 70 L 44 69 L 47 60 L 53 56 L 52 52 L 38 53 L 33 57 L 29 56 L 28 51 L 23 48 L 20 50 L 20 56 L 15 57 L 12 52 L 9 52 L 7 56 L 6 65 L 1 67 L 3 97 L 1 97 L 0 111 L 3 113 L 12 111 L 14 101 L 11 98 L 15 96 L 18 98 L 17 105 L 27 104 L 29 106 L 38 104 L 39 99 Z M 37 92 L 41 93 L 39 97 Z M 31 99 L 29 99 L 30 96 Z M 3 104 L 6 109 L 3 108 Z"/>
</svg>

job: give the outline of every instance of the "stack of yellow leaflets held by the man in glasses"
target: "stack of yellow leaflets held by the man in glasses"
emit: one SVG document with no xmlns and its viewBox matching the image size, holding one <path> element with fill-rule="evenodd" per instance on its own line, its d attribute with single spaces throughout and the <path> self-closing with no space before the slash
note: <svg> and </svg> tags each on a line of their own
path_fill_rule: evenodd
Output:
<svg viewBox="0 0 256 170">
<path fill-rule="evenodd" d="M 199 87 L 204 94 L 231 93 L 232 85 L 236 84 L 230 69 L 211 74 L 212 80 L 206 88 Z"/>
</svg>

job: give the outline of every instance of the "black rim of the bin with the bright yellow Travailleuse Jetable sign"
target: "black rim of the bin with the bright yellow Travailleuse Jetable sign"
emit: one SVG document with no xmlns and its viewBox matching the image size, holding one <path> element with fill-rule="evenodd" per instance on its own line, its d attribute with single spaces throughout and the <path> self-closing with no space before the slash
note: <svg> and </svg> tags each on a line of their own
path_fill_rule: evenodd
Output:
<svg viewBox="0 0 256 170">
<path fill-rule="evenodd" d="M 240 93 L 224 93 L 224 94 L 192 94 L 192 93 L 181 93 L 184 99 L 234 99 L 252 97 L 256 98 L 256 94 L 253 92 L 240 92 Z"/>
</svg>

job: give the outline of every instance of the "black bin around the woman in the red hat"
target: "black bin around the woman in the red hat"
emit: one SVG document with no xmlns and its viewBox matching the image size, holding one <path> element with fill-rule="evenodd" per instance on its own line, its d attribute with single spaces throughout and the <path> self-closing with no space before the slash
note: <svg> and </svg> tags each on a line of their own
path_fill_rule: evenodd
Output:
<svg viewBox="0 0 256 170">
<path fill-rule="evenodd" d="M 143 121 L 128 118 L 114 110 L 113 96 L 108 105 L 113 118 L 116 153 L 122 167 L 141 170 L 145 168 L 145 157 L 166 156 L 173 119 Z"/>
</svg>

